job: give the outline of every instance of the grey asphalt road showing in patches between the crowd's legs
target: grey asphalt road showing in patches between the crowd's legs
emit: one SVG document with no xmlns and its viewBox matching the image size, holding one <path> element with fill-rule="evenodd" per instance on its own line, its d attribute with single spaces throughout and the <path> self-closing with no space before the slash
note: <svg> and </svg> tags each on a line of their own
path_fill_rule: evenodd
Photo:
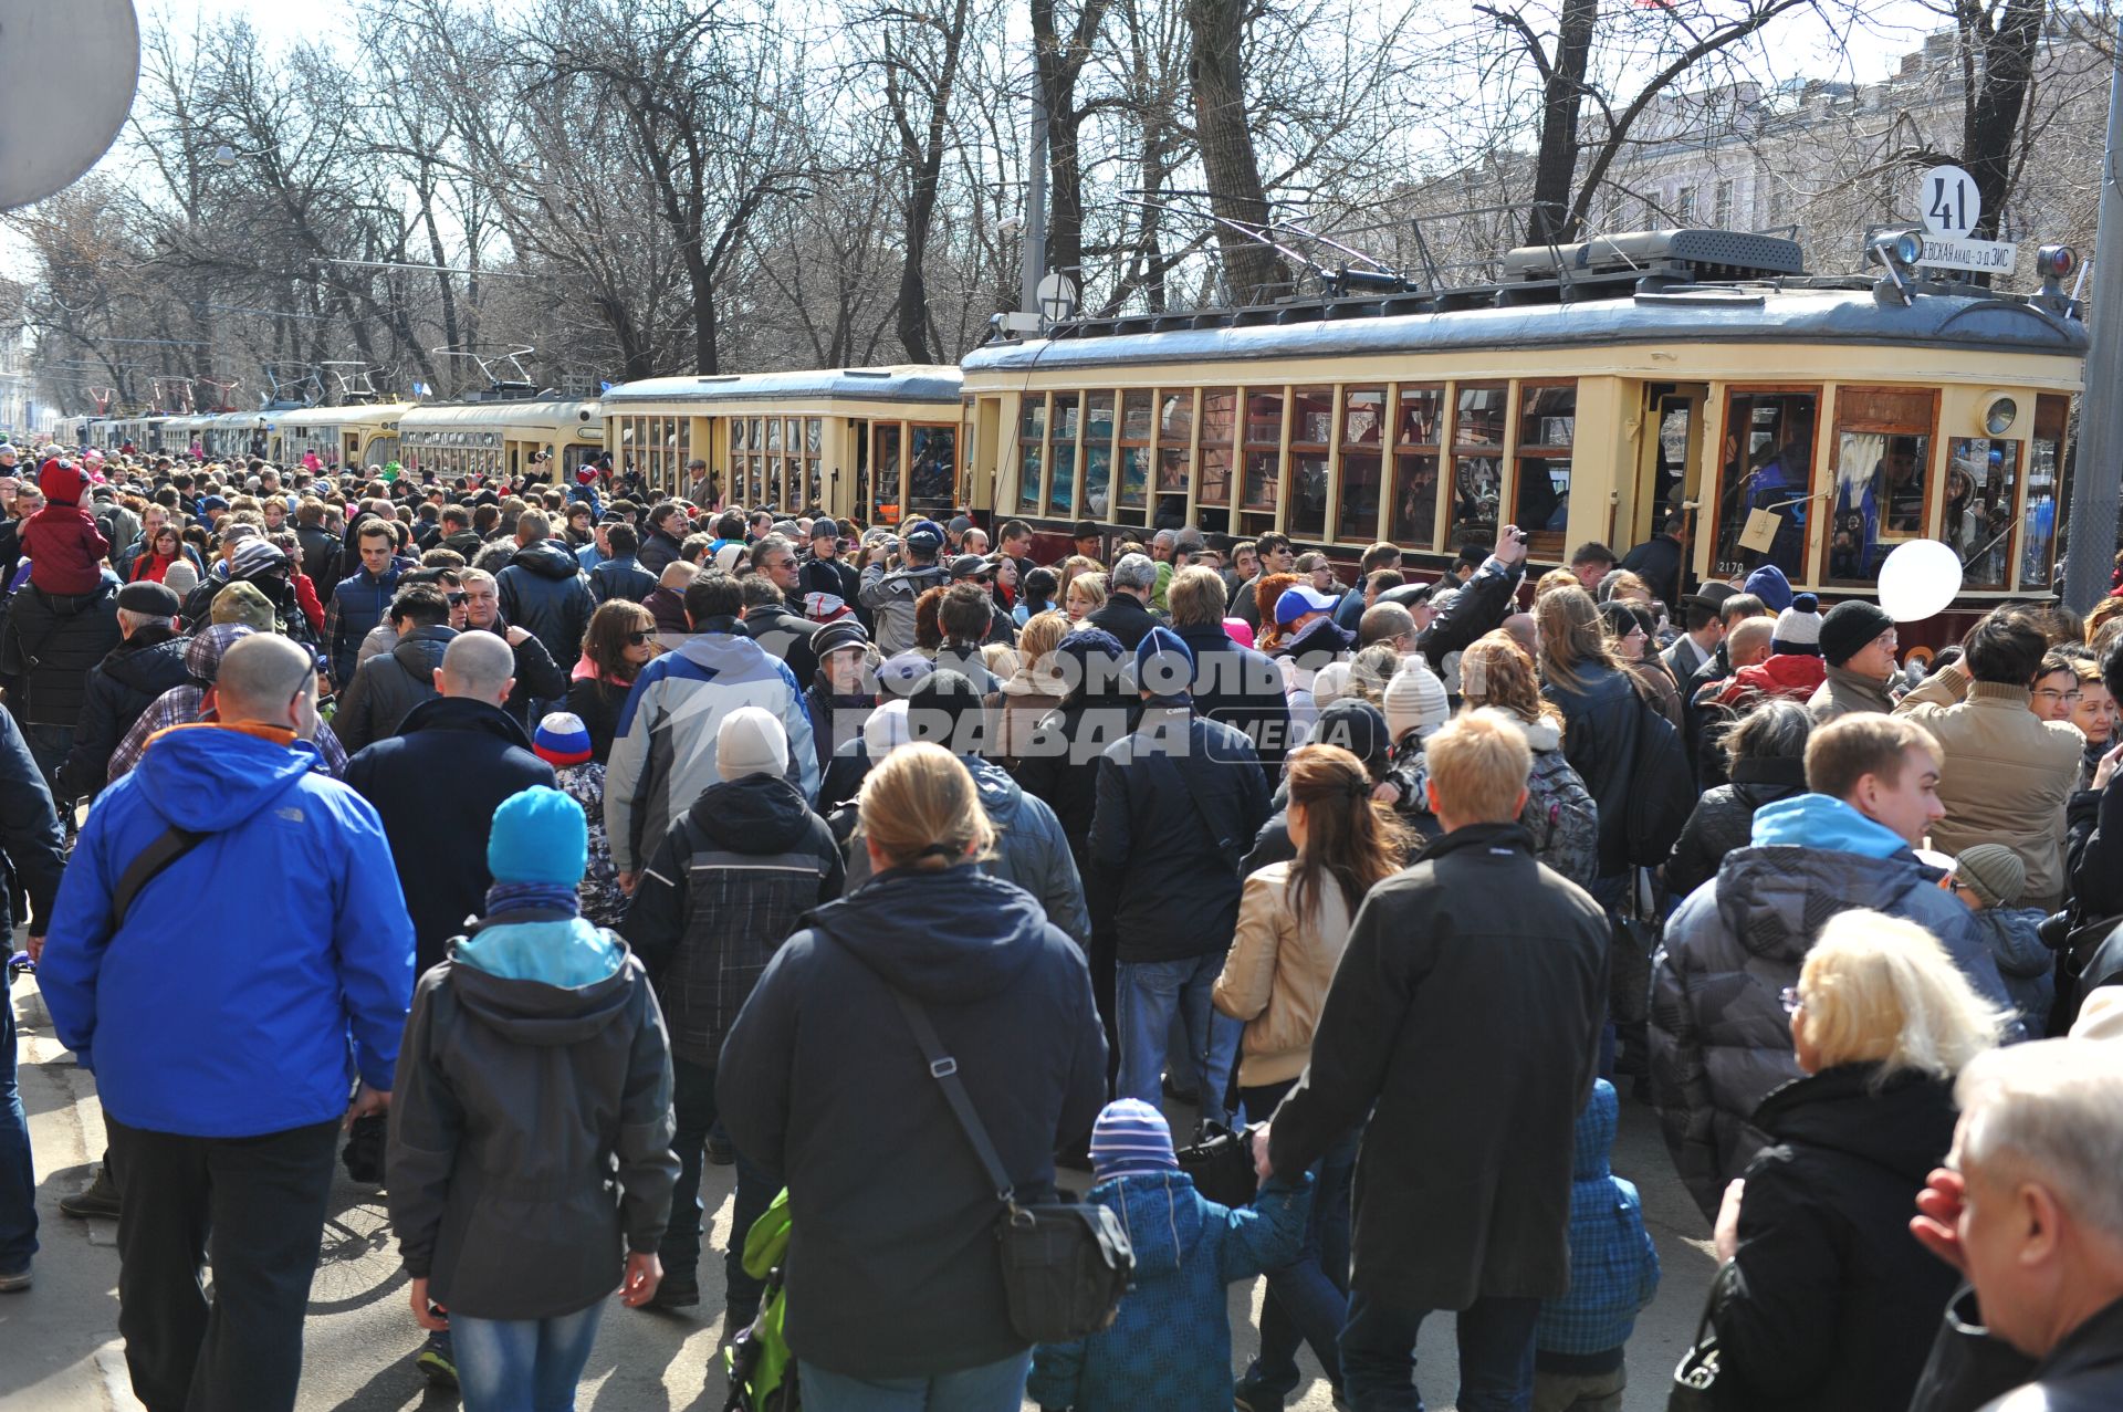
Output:
<svg viewBox="0 0 2123 1412">
<path fill-rule="evenodd" d="M 13 989 L 21 1028 L 21 1094 L 36 1155 L 42 1253 L 36 1285 L 0 1295 L 0 1412 L 132 1412 L 123 1344 L 117 1336 L 117 1251 L 108 1221 L 70 1221 L 57 1200 L 83 1187 L 102 1153 L 96 1083 L 51 1036 L 34 979 Z M 1174 1121 L 1180 1130 L 1183 1121 Z M 1643 1191 L 1645 1221 L 1658 1242 L 1664 1282 L 1637 1321 L 1628 1346 L 1628 1412 L 1667 1406 L 1667 1380 L 1694 1338 L 1713 1261 L 1709 1227 L 1673 1176 L 1658 1123 L 1639 1104 L 1622 1104 L 1616 1172 Z M 728 1238 L 730 1168 L 707 1168 L 705 1202 L 715 1212 L 713 1242 Z M 720 1259 L 703 1259 L 703 1302 L 675 1314 L 628 1310 L 614 1302 L 584 1374 L 580 1408 L 594 1412 L 718 1412 L 724 1397 L 720 1363 Z M 1253 1350 L 1261 1285 L 1231 1291 L 1233 1372 Z M 308 1412 L 401 1412 L 454 1408 L 456 1397 L 431 1391 L 414 1370 L 420 1329 L 405 1306 L 408 1287 L 391 1249 L 380 1193 L 342 1181 L 310 1291 L 304 1344 Z M 1454 1348 L 1450 1319 L 1422 1329 L 1418 1382 L 1433 1410 L 1450 1408 Z M 1308 1382 L 1291 1406 L 1327 1412 L 1327 1382 L 1304 1355 Z"/>
</svg>

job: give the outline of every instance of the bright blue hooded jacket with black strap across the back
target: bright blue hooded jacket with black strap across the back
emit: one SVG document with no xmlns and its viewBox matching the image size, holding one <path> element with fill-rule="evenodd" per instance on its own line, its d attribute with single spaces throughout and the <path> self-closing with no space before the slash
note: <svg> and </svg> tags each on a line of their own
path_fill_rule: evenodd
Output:
<svg viewBox="0 0 2123 1412">
<path fill-rule="evenodd" d="M 270 735 L 161 733 L 89 811 L 59 881 L 38 987 L 132 1127 L 259 1136 L 338 1119 L 357 1072 L 395 1087 L 412 924 L 382 820 L 314 773 L 314 747 Z M 170 826 L 206 837 L 113 928 L 119 879 Z"/>
</svg>

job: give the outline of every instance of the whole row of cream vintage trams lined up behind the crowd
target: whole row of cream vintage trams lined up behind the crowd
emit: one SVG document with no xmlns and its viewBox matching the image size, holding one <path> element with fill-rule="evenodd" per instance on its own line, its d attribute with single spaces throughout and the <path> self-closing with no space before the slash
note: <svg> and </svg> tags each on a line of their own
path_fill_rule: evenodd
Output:
<svg viewBox="0 0 2123 1412">
<path fill-rule="evenodd" d="M 72 418 L 59 437 L 556 480 L 609 454 L 667 495 L 703 461 L 739 503 L 864 524 L 972 507 L 1049 535 L 1083 518 L 1282 531 L 1337 561 L 1391 539 L 1416 567 L 1505 522 L 1554 565 L 1679 518 L 1688 582 L 1773 563 L 1828 599 L 1930 537 L 1962 556 L 1957 618 L 2053 592 L 2087 352 L 2059 265 L 2004 295 L 1894 265 L 1807 276 L 1785 240 L 1650 231 L 1514 251 L 1469 289 L 998 321 L 957 365 Z"/>
</svg>

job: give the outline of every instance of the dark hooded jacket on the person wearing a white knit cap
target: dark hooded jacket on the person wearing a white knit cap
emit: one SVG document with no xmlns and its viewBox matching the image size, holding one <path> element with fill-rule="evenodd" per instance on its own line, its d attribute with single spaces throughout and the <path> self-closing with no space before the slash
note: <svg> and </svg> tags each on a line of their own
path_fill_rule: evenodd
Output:
<svg viewBox="0 0 2123 1412">
<path fill-rule="evenodd" d="M 656 981 L 671 1053 L 713 1068 L 730 1021 L 802 915 L 841 896 L 826 820 L 777 775 L 701 790 L 650 854 L 622 932 Z"/>
</svg>

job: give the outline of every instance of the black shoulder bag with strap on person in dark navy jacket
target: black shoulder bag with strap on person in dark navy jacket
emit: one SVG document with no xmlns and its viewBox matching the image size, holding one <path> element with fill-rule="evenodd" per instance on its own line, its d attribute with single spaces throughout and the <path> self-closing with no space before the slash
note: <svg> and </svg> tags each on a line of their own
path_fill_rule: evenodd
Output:
<svg viewBox="0 0 2123 1412">
<path fill-rule="evenodd" d="M 1002 1204 L 1002 1215 L 996 1217 L 996 1246 L 1017 1338 L 1028 1344 L 1066 1344 L 1110 1327 L 1121 1312 L 1127 1280 L 1136 1272 L 1136 1251 L 1127 1244 L 1119 1217 L 1093 1202 L 1019 1202 L 1011 1174 L 1002 1168 L 1002 1157 L 987 1140 L 981 1115 L 974 1113 L 972 1098 L 957 1077 L 957 1060 L 943 1051 L 928 1011 L 892 981 L 885 981 L 885 989 L 907 1017 L 907 1028 L 915 1032 L 930 1079 L 943 1089 L 951 1117 L 981 1159 L 996 1189 L 996 1202 Z"/>
</svg>

